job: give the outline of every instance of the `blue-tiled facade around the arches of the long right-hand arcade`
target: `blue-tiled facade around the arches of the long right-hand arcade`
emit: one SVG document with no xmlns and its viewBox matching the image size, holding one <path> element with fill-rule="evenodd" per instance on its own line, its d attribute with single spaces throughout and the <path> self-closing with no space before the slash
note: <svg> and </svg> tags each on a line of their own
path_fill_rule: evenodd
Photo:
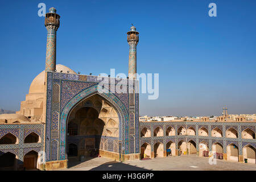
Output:
<svg viewBox="0 0 256 182">
<path fill-rule="evenodd" d="M 141 137 L 140 138 L 140 146 L 142 146 L 144 143 L 148 143 L 151 145 L 151 151 L 154 151 L 154 144 L 160 141 L 163 141 L 164 144 L 164 150 L 166 149 L 166 144 L 170 141 L 175 142 L 175 146 L 177 149 L 177 143 L 179 143 L 181 140 L 184 140 L 184 142 L 188 142 L 189 140 L 193 140 L 196 143 L 197 150 L 199 150 L 198 146 L 201 142 L 206 142 L 209 145 L 209 149 L 212 148 L 212 144 L 218 142 L 222 145 L 223 151 L 226 152 L 226 146 L 233 143 L 236 144 L 238 147 L 239 155 L 242 155 L 242 148 L 246 145 L 251 145 L 256 148 L 256 139 L 243 139 L 241 138 L 241 131 L 249 128 L 254 131 L 255 133 L 255 124 L 253 122 L 140 122 L 140 131 L 144 129 L 144 127 L 147 127 L 147 129 L 151 132 L 151 137 Z M 175 136 L 166 136 L 166 130 L 168 127 L 173 127 L 175 129 Z M 186 130 L 189 127 L 193 127 L 196 130 L 196 135 L 177 135 L 177 130 L 183 126 Z M 160 127 L 164 129 L 163 137 L 153 137 L 153 133 L 156 127 Z M 208 130 L 209 136 L 199 136 L 198 130 L 201 127 L 205 127 Z M 218 127 L 222 131 L 223 137 L 211 137 L 210 133 L 211 130 Z M 225 137 L 225 130 L 232 127 L 233 129 L 236 129 L 238 131 L 238 138 L 226 138 Z M 139 148 L 141 150 L 141 148 Z"/>
</svg>

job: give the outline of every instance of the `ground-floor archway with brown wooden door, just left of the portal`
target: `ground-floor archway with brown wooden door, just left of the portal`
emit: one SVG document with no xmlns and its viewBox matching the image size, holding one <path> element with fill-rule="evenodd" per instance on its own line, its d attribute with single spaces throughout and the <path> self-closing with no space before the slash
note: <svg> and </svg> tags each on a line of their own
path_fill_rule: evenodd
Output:
<svg viewBox="0 0 256 182">
<path fill-rule="evenodd" d="M 24 155 L 23 167 L 26 170 L 38 168 L 38 152 L 32 150 Z"/>
</svg>

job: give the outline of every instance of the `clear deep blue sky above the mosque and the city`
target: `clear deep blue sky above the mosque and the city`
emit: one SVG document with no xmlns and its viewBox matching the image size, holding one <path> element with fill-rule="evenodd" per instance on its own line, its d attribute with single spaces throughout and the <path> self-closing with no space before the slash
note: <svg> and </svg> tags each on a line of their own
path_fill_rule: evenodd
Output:
<svg viewBox="0 0 256 182">
<path fill-rule="evenodd" d="M 44 17 L 55 7 L 57 64 L 98 75 L 127 73 L 131 23 L 138 73 L 159 73 L 159 98 L 140 94 L 140 115 L 256 113 L 256 1 L 0 1 L 0 108 L 19 110 L 45 68 Z M 217 5 L 217 17 L 208 5 Z"/>
</svg>

